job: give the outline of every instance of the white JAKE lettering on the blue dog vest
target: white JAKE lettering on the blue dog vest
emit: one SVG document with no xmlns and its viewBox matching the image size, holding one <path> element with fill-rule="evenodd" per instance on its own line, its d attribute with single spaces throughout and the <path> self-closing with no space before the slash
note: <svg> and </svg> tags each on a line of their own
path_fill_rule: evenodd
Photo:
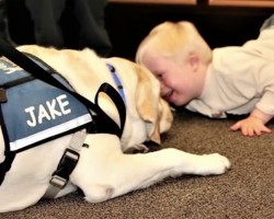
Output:
<svg viewBox="0 0 274 219">
<path fill-rule="evenodd" d="M 52 104 L 49 101 L 46 102 L 46 106 L 39 104 L 39 110 L 38 110 L 38 116 L 34 114 L 34 106 L 30 106 L 25 108 L 25 113 L 30 113 L 31 120 L 26 120 L 26 124 L 31 127 L 35 127 L 38 124 L 43 123 L 43 119 L 46 118 L 47 120 L 55 119 L 56 116 L 62 116 L 71 113 L 70 108 L 65 108 L 66 106 L 69 105 L 68 101 L 64 101 L 67 99 L 66 94 L 59 95 L 56 97 L 57 103 L 60 107 L 60 111 L 56 111 L 56 100 L 52 100 Z"/>
</svg>

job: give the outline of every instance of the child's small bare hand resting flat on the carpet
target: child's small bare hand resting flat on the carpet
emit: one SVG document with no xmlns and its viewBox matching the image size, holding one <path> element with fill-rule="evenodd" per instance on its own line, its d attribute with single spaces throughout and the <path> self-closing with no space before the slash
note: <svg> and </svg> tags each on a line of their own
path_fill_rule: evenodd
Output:
<svg viewBox="0 0 274 219">
<path fill-rule="evenodd" d="M 255 108 L 248 118 L 239 120 L 230 127 L 230 130 L 239 130 L 243 136 L 261 136 L 262 132 L 271 132 L 265 124 L 272 119 L 273 116 L 261 112 Z"/>
</svg>

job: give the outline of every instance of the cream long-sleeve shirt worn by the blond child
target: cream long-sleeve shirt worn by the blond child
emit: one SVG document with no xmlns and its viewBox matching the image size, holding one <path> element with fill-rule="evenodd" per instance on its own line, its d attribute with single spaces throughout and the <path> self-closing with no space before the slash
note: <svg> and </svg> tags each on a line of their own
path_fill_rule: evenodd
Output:
<svg viewBox="0 0 274 219">
<path fill-rule="evenodd" d="M 243 46 L 213 50 L 205 87 L 186 108 L 209 117 L 248 114 L 255 107 L 274 115 L 274 26 Z"/>
</svg>

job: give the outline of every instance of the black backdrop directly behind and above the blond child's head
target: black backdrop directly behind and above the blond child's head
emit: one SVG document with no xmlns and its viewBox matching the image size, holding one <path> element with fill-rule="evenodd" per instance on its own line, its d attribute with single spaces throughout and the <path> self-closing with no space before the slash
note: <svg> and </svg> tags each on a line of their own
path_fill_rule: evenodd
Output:
<svg viewBox="0 0 274 219">
<path fill-rule="evenodd" d="M 134 58 L 140 41 L 164 21 L 193 22 L 212 48 L 242 45 L 258 37 L 259 28 L 274 8 L 214 7 L 206 4 L 109 3 L 105 25 L 114 49 L 113 56 Z"/>
</svg>

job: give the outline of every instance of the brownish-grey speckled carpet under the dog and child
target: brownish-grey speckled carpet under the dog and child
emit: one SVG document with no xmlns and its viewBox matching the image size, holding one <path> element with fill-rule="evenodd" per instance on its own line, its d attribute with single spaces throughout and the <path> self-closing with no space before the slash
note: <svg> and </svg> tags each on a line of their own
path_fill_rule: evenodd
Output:
<svg viewBox="0 0 274 219">
<path fill-rule="evenodd" d="M 229 131 L 233 122 L 181 113 L 163 142 L 163 147 L 192 153 L 219 152 L 228 157 L 232 169 L 224 175 L 168 178 L 102 204 L 89 204 L 81 192 L 76 192 L 0 218 L 273 219 L 274 132 L 243 137 Z M 270 127 L 274 130 L 274 124 Z"/>
</svg>

